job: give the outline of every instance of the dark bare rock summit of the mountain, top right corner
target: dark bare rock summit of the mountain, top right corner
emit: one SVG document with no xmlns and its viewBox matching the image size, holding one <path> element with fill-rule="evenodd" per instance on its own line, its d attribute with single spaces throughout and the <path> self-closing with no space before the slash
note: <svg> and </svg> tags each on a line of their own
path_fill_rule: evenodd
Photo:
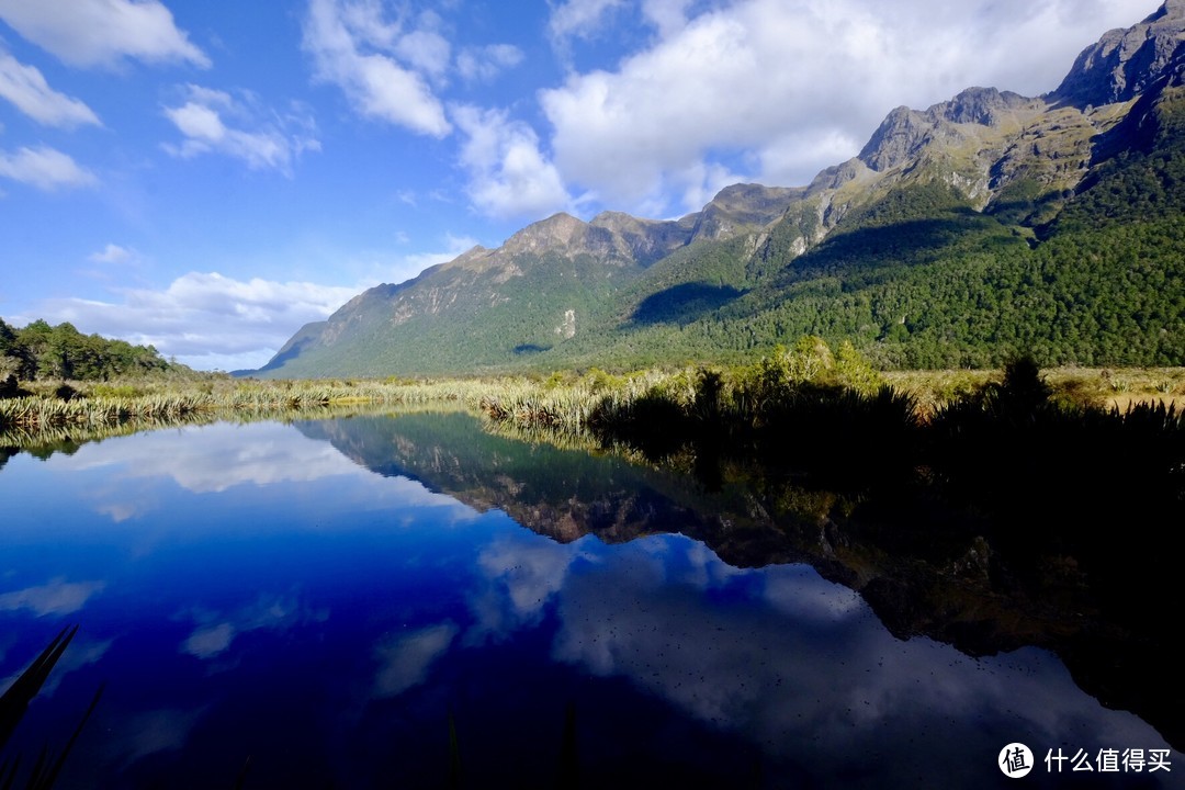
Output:
<svg viewBox="0 0 1185 790">
<path fill-rule="evenodd" d="M 1051 98 L 1077 107 L 1126 102 L 1185 66 L 1185 0 L 1167 0 L 1128 30 L 1113 30 L 1082 51 Z"/>
</svg>

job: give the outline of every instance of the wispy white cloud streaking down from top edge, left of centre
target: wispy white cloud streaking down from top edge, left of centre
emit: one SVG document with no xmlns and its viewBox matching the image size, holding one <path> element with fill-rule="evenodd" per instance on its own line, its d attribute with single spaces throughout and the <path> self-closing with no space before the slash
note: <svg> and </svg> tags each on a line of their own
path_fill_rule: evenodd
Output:
<svg viewBox="0 0 1185 790">
<path fill-rule="evenodd" d="M 376 2 L 312 0 L 303 45 L 316 79 L 339 86 L 361 115 L 435 137 L 451 131 L 444 107 L 415 70 L 443 70 L 448 43 L 435 33 L 404 33 Z"/>
</svg>

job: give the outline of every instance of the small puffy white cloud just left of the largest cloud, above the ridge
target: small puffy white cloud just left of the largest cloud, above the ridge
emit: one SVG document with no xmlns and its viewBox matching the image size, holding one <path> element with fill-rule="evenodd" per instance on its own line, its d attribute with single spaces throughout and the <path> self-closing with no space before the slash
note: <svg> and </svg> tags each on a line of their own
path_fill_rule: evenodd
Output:
<svg viewBox="0 0 1185 790">
<path fill-rule="evenodd" d="M 539 149 L 526 123 L 502 110 L 453 108 L 466 134 L 461 163 L 469 172 L 469 199 L 492 217 L 540 217 L 566 207 L 571 199 L 556 166 Z"/>
</svg>

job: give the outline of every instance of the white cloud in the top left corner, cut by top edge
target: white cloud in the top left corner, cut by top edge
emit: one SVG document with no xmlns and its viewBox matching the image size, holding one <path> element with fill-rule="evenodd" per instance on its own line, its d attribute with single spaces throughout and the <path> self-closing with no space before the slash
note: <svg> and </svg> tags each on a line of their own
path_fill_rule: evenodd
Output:
<svg viewBox="0 0 1185 790">
<path fill-rule="evenodd" d="M 0 0 L 0 19 L 75 66 L 110 66 L 123 58 L 210 66 L 158 0 Z"/>
</svg>

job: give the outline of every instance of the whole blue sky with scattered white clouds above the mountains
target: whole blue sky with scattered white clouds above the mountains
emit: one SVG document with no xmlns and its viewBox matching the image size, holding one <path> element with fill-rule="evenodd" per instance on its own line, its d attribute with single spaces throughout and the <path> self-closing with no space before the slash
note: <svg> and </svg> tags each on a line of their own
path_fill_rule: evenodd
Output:
<svg viewBox="0 0 1185 790">
<path fill-rule="evenodd" d="M 260 367 L 558 211 L 808 184 L 1155 0 L 0 0 L 0 317 Z"/>
</svg>

